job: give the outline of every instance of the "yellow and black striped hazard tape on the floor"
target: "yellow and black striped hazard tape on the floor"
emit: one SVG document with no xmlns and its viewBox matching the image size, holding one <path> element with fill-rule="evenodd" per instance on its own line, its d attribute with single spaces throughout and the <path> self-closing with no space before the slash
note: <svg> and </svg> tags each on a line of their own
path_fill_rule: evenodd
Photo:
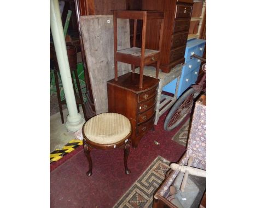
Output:
<svg viewBox="0 0 256 208">
<path fill-rule="evenodd" d="M 50 163 L 60 160 L 64 155 L 67 155 L 69 152 L 72 152 L 75 148 L 82 145 L 83 141 L 79 139 L 72 139 L 69 141 L 61 150 L 56 149 L 50 154 Z"/>
</svg>

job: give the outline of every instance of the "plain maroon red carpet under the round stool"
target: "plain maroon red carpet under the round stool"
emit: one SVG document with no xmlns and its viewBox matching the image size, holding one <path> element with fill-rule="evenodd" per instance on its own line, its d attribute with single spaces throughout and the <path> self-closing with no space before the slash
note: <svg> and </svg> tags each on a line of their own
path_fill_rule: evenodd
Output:
<svg viewBox="0 0 256 208">
<path fill-rule="evenodd" d="M 92 150 L 92 176 L 88 177 L 88 161 L 83 147 L 67 154 L 50 165 L 50 207 L 113 207 L 133 183 L 161 156 L 177 162 L 185 147 L 172 137 L 185 121 L 173 131 L 165 131 L 165 113 L 160 117 L 155 132 L 146 134 L 136 149 L 130 149 L 128 167 L 124 173 L 123 150 Z M 189 118 L 189 115 L 188 115 Z"/>
</svg>

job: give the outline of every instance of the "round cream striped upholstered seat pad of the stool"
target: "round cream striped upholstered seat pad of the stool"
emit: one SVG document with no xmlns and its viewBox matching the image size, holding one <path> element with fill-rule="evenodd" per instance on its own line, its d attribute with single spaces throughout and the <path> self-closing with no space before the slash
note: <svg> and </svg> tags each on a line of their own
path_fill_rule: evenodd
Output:
<svg viewBox="0 0 256 208">
<path fill-rule="evenodd" d="M 131 123 L 124 115 L 102 113 L 84 125 L 86 139 L 97 144 L 112 144 L 124 139 L 131 132 Z"/>
</svg>

